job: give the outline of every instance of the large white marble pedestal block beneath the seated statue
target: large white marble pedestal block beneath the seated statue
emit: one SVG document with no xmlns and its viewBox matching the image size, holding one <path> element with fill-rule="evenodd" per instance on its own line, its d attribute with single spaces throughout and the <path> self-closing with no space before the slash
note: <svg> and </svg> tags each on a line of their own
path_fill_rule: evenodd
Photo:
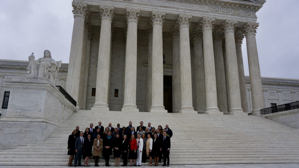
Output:
<svg viewBox="0 0 299 168">
<path fill-rule="evenodd" d="M 77 111 L 45 78 L 16 77 L 5 85 L 11 89 L 6 116 L 0 120 L 2 144 L 42 141 Z"/>
</svg>

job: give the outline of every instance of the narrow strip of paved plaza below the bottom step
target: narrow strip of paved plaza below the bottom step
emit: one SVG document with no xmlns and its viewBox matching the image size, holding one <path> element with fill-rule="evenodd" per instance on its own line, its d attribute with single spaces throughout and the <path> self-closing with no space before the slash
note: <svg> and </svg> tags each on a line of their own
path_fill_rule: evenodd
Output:
<svg viewBox="0 0 299 168">
<path fill-rule="evenodd" d="M 160 166 L 160 165 L 159 165 Z M 159 167 L 158 166 L 158 167 Z M 0 166 L 0 168 L 60 168 L 68 166 Z M 94 167 L 94 166 L 91 166 Z M 106 167 L 106 166 L 99 166 Z M 111 166 L 112 167 L 112 166 Z M 129 166 L 127 166 L 129 167 Z M 141 166 L 146 168 L 148 166 Z M 277 164 L 197 164 L 197 165 L 170 165 L 171 168 L 298 168 L 299 163 Z"/>
</svg>

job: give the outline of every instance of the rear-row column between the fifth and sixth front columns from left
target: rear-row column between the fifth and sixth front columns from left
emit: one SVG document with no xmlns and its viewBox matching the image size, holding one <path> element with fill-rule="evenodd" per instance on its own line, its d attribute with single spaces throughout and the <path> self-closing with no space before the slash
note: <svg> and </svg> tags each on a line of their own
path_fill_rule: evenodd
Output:
<svg viewBox="0 0 299 168">
<path fill-rule="evenodd" d="M 198 112 L 205 112 L 205 71 L 204 57 L 202 50 L 202 30 L 193 31 L 191 36 L 194 46 L 194 84 L 195 84 L 195 104 L 194 108 Z"/>
</svg>

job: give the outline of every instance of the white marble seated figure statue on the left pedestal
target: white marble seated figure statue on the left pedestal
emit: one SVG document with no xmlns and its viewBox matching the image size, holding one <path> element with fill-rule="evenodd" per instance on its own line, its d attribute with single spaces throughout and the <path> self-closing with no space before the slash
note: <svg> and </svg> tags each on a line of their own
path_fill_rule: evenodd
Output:
<svg viewBox="0 0 299 168">
<path fill-rule="evenodd" d="M 49 50 L 44 51 L 44 57 L 35 60 L 32 53 L 29 59 L 29 65 L 27 67 L 27 74 L 34 77 L 43 77 L 55 84 L 55 80 L 61 66 L 61 61 L 55 61 L 51 57 Z"/>
</svg>

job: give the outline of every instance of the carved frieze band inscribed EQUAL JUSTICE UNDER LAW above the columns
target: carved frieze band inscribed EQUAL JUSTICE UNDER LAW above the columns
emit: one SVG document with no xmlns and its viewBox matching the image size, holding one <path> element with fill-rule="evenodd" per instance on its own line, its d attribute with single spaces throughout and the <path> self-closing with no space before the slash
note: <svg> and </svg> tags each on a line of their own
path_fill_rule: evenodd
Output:
<svg viewBox="0 0 299 168">
<path fill-rule="evenodd" d="M 120 0 L 120 1 L 127 1 L 131 3 L 145 4 L 145 5 L 146 4 L 158 5 L 161 7 L 176 7 L 176 8 L 189 9 L 189 10 L 199 10 L 199 11 L 207 11 L 207 12 L 217 12 L 217 13 L 256 17 L 256 12 L 254 10 L 236 9 L 232 7 L 221 7 L 221 6 L 212 6 L 212 5 L 209 6 L 209 5 L 191 4 L 191 3 L 175 2 L 175 1 L 163 1 L 163 0 Z"/>
</svg>

